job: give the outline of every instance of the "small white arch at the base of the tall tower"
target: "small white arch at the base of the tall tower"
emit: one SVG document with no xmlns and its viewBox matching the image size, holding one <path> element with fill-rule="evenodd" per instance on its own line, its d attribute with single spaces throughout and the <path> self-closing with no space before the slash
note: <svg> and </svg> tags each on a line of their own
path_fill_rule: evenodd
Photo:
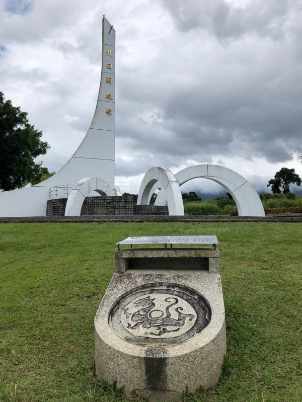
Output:
<svg viewBox="0 0 302 402">
<path fill-rule="evenodd" d="M 115 191 L 102 179 L 97 177 L 82 179 L 70 191 L 65 207 L 65 216 L 80 216 L 83 202 L 91 191 L 96 191 L 100 195 L 115 195 Z"/>
</svg>

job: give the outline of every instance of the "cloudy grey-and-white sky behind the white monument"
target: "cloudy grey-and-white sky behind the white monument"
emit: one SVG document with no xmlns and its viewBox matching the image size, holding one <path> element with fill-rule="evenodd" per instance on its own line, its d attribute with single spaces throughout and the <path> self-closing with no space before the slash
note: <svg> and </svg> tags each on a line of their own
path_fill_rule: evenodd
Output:
<svg viewBox="0 0 302 402">
<path fill-rule="evenodd" d="M 43 131 L 50 171 L 90 126 L 103 15 L 116 30 L 121 188 L 137 193 L 154 166 L 221 165 L 259 192 L 282 167 L 302 177 L 301 0 L 0 0 L 0 91 Z"/>
</svg>

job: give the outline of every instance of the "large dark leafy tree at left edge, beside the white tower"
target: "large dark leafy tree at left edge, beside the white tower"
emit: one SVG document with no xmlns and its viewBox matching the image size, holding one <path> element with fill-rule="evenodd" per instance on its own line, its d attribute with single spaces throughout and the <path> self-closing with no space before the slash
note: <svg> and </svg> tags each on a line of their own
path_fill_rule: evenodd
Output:
<svg viewBox="0 0 302 402">
<path fill-rule="evenodd" d="M 49 148 L 41 136 L 42 132 L 29 124 L 27 113 L 6 101 L 0 92 L 0 189 L 14 190 L 52 175 L 42 168 L 42 162 L 34 161 Z"/>
</svg>

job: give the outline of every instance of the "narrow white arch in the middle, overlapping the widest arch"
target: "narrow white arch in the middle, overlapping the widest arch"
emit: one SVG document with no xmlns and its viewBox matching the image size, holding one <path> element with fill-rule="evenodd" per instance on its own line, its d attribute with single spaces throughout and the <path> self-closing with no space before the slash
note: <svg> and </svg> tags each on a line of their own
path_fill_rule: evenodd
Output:
<svg viewBox="0 0 302 402">
<path fill-rule="evenodd" d="M 165 168 L 151 168 L 144 175 L 137 197 L 137 205 L 148 205 L 153 194 L 153 186 L 165 191 L 169 209 L 169 215 L 184 215 L 184 205 L 179 188 L 179 182 L 174 174 Z"/>
</svg>

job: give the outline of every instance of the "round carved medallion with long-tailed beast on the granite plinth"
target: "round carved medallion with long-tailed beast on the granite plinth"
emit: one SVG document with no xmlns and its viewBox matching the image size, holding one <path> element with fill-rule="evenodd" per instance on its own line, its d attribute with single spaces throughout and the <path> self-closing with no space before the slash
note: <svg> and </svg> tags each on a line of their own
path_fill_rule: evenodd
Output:
<svg viewBox="0 0 302 402">
<path fill-rule="evenodd" d="M 179 343 L 202 331 L 210 321 L 206 300 L 191 289 L 147 285 L 122 296 L 109 314 L 113 330 L 137 343 Z"/>
</svg>

